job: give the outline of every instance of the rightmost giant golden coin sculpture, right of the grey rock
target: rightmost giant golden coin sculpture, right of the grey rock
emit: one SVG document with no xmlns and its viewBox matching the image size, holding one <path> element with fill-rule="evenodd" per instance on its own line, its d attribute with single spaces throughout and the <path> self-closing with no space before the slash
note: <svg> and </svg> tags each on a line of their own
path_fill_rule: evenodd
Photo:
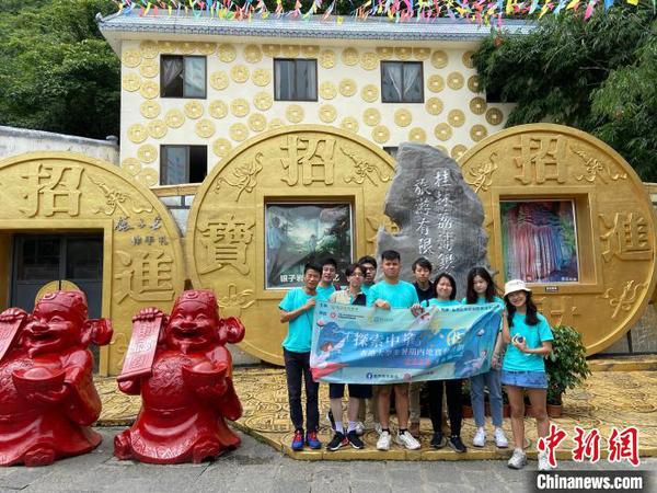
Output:
<svg viewBox="0 0 657 493">
<path fill-rule="evenodd" d="M 526 277 L 540 310 L 551 324 L 581 332 L 589 354 L 609 347 L 632 328 L 655 289 L 655 221 L 645 187 L 618 152 L 574 128 L 534 124 L 482 140 L 459 163 L 484 205 L 488 259 L 502 274 L 500 285 L 508 280 L 507 272 L 517 272 L 509 265 L 518 259 L 530 259 L 537 270 L 549 262 L 541 256 L 549 245 L 509 248 L 521 244 L 507 239 L 510 228 L 522 239 L 523 225 L 546 227 L 540 218 L 528 217 L 537 206 L 523 204 L 558 203 L 574 210 L 573 227 L 563 231 L 574 233 L 568 243 L 576 245 L 577 270 L 560 282 Z M 519 211 L 515 226 L 505 226 L 505 210 L 514 207 Z"/>
</svg>

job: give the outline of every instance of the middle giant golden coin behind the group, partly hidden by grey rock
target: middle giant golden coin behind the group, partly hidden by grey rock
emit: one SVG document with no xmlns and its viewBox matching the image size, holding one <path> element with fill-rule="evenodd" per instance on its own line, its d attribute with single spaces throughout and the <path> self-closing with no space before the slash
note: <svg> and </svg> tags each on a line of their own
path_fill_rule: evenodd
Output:
<svg viewBox="0 0 657 493">
<path fill-rule="evenodd" d="M 264 133 L 212 169 L 189 213 L 188 273 L 196 288 L 215 290 L 224 317 L 244 322 L 244 351 L 283 364 L 287 324 L 279 322 L 278 303 L 286 291 L 265 288 L 265 206 L 350 204 L 357 259 L 376 251 L 379 227 L 391 227 L 382 211 L 393 174 L 393 161 L 381 148 L 319 125 Z"/>
</svg>

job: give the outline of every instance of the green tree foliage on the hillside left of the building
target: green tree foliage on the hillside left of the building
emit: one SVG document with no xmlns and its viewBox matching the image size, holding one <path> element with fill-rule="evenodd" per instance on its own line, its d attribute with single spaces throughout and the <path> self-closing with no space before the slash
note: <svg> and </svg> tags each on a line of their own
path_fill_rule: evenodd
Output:
<svg viewBox="0 0 657 493">
<path fill-rule="evenodd" d="M 94 21 L 112 0 L 10 0 L 0 11 L 0 125 L 118 135 L 120 65 Z"/>
</svg>

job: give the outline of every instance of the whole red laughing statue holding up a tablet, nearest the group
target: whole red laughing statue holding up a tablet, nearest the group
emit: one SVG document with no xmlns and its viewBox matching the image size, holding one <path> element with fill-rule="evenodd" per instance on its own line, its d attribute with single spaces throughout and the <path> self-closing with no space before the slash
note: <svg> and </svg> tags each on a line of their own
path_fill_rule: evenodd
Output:
<svg viewBox="0 0 657 493">
<path fill-rule="evenodd" d="M 224 419 L 242 405 L 226 343 L 244 339 L 239 319 L 220 319 L 210 290 L 188 290 L 171 317 L 157 308 L 132 318 L 132 336 L 118 388 L 141 394 L 135 424 L 114 438 L 114 455 L 152 463 L 200 462 L 240 445 Z"/>
</svg>

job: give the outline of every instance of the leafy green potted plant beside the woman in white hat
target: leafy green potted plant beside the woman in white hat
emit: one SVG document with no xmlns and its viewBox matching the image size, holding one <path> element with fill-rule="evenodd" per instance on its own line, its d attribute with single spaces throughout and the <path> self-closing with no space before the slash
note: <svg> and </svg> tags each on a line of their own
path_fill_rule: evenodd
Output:
<svg viewBox="0 0 657 493">
<path fill-rule="evenodd" d="M 569 325 L 557 325 L 552 334 L 552 354 L 545 360 L 548 414 L 558 417 L 563 411 L 563 393 L 581 385 L 591 375 L 591 370 L 579 332 Z"/>
</svg>

